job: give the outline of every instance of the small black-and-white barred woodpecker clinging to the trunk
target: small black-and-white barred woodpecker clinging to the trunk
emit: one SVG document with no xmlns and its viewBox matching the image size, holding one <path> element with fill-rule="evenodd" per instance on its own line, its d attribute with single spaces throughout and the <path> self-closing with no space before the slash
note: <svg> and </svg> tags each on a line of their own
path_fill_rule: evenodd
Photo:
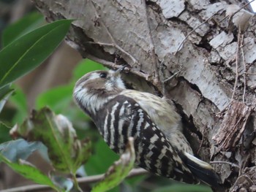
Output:
<svg viewBox="0 0 256 192">
<path fill-rule="evenodd" d="M 135 139 L 135 163 L 148 172 L 184 183 L 203 181 L 215 186 L 219 175 L 193 155 L 182 133 L 181 117 L 167 99 L 127 89 L 121 69 L 85 74 L 73 97 L 118 154 L 129 137 Z"/>
</svg>

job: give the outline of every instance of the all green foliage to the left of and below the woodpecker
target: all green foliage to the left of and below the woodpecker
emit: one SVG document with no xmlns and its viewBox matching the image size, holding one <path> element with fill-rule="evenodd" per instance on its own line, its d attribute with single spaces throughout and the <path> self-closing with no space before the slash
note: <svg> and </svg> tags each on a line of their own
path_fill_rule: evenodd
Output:
<svg viewBox="0 0 256 192">
<path fill-rule="evenodd" d="M 84 175 L 102 174 L 110 167 L 105 174 L 105 180 L 94 185 L 93 191 L 119 191 L 120 188 L 124 191 L 148 191 L 143 186 L 148 178 L 154 179 L 151 190 L 184 191 L 184 186 L 187 185 L 159 188 L 172 183 L 159 177 L 144 175 L 124 180 L 134 166 L 135 152 L 132 142 L 118 160 L 118 155 L 99 137 L 89 117 L 72 100 L 72 89 L 83 74 L 105 69 L 94 61 L 81 61 L 69 83 L 51 88 L 37 96 L 37 110 L 31 115 L 28 114 L 26 95 L 11 84 L 42 64 L 53 53 L 67 34 L 72 20 L 58 20 L 45 26 L 42 23 L 42 15 L 31 13 L 6 28 L 2 35 L 4 48 L 0 51 L 0 161 L 23 177 L 48 185 L 56 191 L 70 191 L 72 185 L 76 191 L 81 191 L 75 177 L 80 167 L 84 167 Z M 4 106 L 8 99 L 14 110 Z M 60 113 L 61 115 L 56 115 Z M 23 139 L 12 140 L 10 136 Z M 27 160 L 34 155 L 34 151 L 42 154 L 53 166 L 50 175 L 43 173 Z M 116 162 L 113 164 L 114 161 Z M 61 172 L 61 176 L 56 170 Z M 68 180 L 70 174 L 71 185 Z M 121 185 L 114 188 L 119 183 Z M 140 183 L 142 185 L 138 186 Z M 197 187 L 197 191 L 200 191 L 200 186 Z M 190 189 L 195 191 L 191 186 L 187 191 Z"/>
</svg>

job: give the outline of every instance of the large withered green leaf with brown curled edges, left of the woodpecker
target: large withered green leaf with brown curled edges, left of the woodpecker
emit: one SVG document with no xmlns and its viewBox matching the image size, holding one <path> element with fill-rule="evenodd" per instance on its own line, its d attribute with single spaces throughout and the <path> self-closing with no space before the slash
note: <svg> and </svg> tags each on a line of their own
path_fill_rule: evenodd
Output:
<svg viewBox="0 0 256 192">
<path fill-rule="evenodd" d="M 91 154 L 91 142 L 78 140 L 72 123 L 63 115 L 55 115 L 48 107 L 32 112 L 31 118 L 11 131 L 14 136 L 41 141 L 48 147 L 53 166 L 62 172 L 75 174 Z"/>
</svg>

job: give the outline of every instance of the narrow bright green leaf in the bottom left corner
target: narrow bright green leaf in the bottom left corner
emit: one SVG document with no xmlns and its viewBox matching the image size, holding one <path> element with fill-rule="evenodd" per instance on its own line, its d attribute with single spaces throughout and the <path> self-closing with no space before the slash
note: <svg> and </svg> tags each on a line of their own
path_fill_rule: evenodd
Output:
<svg viewBox="0 0 256 192">
<path fill-rule="evenodd" d="M 13 163 L 8 158 L 5 158 L 3 154 L 0 153 L 0 161 L 3 161 L 5 164 L 10 166 L 15 172 L 23 175 L 29 180 L 33 180 L 35 183 L 39 183 L 41 185 L 48 185 L 56 191 L 60 191 L 56 185 L 47 177 L 45 174 L 39 171 L 35 166 L 30 164 L 28 161 L 24 161 L 19 159 L 18 163 Z"/>
</svg>

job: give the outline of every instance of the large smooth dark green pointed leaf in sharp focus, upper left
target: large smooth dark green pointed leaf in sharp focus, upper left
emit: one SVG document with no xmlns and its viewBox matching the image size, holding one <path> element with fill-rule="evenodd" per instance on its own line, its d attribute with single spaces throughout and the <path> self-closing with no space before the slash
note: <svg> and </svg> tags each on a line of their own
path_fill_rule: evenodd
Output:
<svg viewBox="0 0 256 192">
<path fill-rule="evenodd" d="M 0 88 L 39 66 L 64 39 L 72 20 L 57 20 L 11 42 L 0 52 Z"/>
</svg>

